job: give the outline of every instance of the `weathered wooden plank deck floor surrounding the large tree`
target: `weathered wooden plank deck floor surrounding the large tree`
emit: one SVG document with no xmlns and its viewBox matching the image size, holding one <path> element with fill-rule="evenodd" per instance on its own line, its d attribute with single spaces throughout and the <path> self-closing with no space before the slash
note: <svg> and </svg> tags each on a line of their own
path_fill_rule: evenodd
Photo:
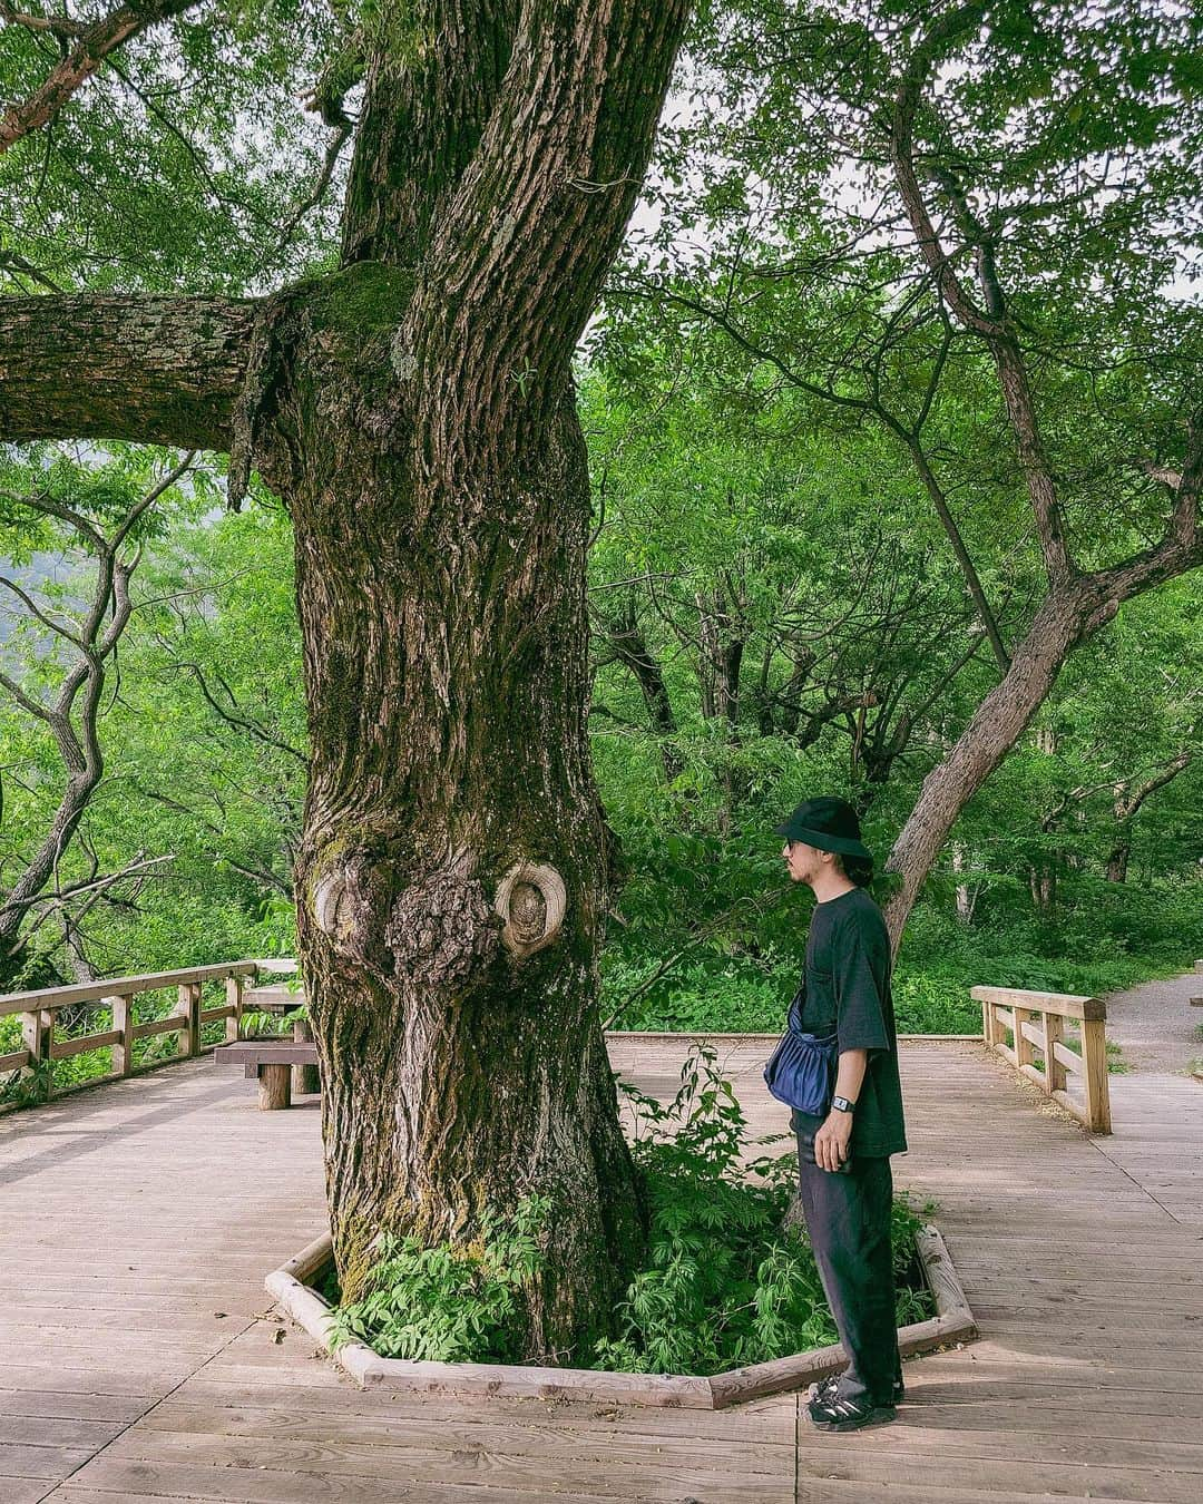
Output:
<svg viewBox="0 0 1203 1504">
<path fill-rule="evenodd" d="M 1165 984 L 1159 984 L 1165 985 Z M 1183 1008 L 1194 981 L 1182 979 Z M 762 1047 L 740 1095 L 782 1126 Z M 644 1089 L 677 1041 L 615 1039 Z M 911 1154 L 983 1331 L 892 1426 L 361 1394 L 268 1308 L 322 1221 L 313 1105 L 188 1062 L 0 1122 L 0 1504 L 1203 1498 L 1203 1086 L 1116 1077 L 1111 1139 L 970 1044 L 902 1048 Z"/>
</svg>

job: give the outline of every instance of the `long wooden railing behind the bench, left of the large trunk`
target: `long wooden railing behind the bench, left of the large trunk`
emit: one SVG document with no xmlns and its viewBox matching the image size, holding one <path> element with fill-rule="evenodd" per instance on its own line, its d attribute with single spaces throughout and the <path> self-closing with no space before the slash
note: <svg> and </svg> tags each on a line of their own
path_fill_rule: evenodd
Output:
<svg viewBox="0 0 1203 1504">
<path fill-rule="evenodd" d="M 223 1023 L 224 1039 L 236 1041 L 242 1035 L 242 1015 L 254 1006 L 254 994 L 248 984 L 260 976 L 289 975 L 296 970 L 295 961 L 223 961 L 218 966 L 197 966 L 180 972 L 153 972 L 143 976 L 114 976 L 105 982 L 84 982 L 74 987 L 45 987 L 33 993 L 8 993 L 0 996 L 0 1018 L 21 1018 L 21 1048 L 0 1054 L 0 1075 L 12 1071 L 27 1072 L 26 1104 L 45 1102 L 84 1086 L 120 1080 L 156 1065 L 171 1065 L 189 1056 L 205 1054 L 220 1041 L 203 1041 L 206 1024 Z M 205 1006 L 206 984 L 223 982 L 226 1000 L 217 1006 Z M 134 1021 L 135 999 L 164 988 L 177 990 L 177 1006 L 165 1018 Z M 111 1014 L 110 1027 L 101 1030 L 72 1032 L 68 1038 L 56 1038 L 59 1014 L 65 1008 L 98 1003 Z M 179 1036 L 176 1053 L 146 1065 L 135 1066 L 134 1044 L 155 1035 Z M 90 1050 L 111 1050 L 111 1069 L 89 1077 L 75 1086 L 60 1090 L 54 1087 L 54 1062 L 69 1060 Z"/>
</svg>

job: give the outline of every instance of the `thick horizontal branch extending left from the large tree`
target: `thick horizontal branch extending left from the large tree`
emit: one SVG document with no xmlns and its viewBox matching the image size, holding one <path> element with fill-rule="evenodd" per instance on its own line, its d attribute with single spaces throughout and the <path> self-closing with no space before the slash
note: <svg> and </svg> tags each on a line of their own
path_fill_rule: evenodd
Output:
<svg viewBox="0 0 1203 1504">
<path fill-rule="evenodd" d="M 0 299 L 0 439 L 229 450 L 259 302 Z"/>
</svg>

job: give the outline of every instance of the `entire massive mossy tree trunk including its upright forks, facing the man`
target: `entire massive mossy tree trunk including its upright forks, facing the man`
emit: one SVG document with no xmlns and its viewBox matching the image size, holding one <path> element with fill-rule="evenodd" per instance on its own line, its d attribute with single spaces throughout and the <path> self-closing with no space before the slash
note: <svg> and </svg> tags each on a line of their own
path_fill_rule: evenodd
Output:
<svg viewBox="0 0 1203 1504">
<path fill-rule="evenodd" d="M 570 361 L 684 6 L 543 0 L 514 35 L 513 6 L 441 9 L 424 65 L 370 69 L 350 265 L 272 301 L 247 453 L 296 531 L 298 938 L 344 1296 L 383 1229 L 469 1242 L 541 1193 L 528 1352 L 580 1361 L 647 1215 L 597 1009 Z"/>
</svg>

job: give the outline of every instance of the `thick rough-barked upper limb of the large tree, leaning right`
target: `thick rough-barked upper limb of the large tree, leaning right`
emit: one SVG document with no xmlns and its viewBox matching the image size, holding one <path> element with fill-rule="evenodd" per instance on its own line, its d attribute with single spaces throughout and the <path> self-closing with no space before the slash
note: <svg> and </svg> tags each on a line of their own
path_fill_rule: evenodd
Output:
<svg viewBox="0 0 1203 1504">
<path fill-rule="evenodd" d="M 687 9 L 523 6 L 480 147 L 432 227 L 406 331 L 420 379 L 510 411 L 561 379 L 630 218 Z"/>
</svg>

